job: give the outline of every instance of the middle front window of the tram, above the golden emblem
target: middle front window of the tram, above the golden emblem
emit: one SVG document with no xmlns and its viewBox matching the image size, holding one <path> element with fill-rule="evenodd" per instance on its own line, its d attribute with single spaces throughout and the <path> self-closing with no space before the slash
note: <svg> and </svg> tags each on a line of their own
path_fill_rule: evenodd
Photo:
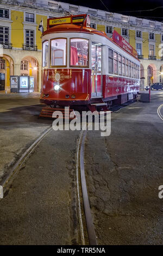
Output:
<svg viewBox="0 0 163 256">
<path fill-rule="evenodd" d="M 66 38 L 51 40 L 51 66 L 66 66 Z"/>
</svg>

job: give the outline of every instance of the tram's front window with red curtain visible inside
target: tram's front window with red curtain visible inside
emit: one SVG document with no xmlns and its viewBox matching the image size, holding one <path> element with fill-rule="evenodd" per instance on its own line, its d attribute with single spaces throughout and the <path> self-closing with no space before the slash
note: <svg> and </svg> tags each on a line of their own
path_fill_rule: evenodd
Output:
<svg viewBox="0 0 163 256">
<path fill-rule="evenodd" d="M 70 66 L 89 66 L 89 40 L 70 39 Z"/>
</svg>

